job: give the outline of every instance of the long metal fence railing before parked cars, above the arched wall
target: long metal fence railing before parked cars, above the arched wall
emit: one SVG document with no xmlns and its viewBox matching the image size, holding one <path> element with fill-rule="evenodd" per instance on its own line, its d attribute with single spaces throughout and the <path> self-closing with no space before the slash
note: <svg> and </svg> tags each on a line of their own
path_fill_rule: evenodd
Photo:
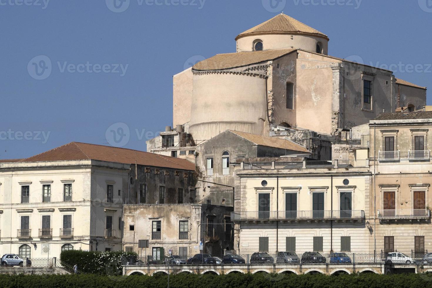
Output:
<svg viewBox="0 0 432 288">
<path fill-rule="evenodd" d="M 397 253 L 397 252 L 395 252 Z M 210 256 L 209 254 L 172 255 L 169 256 L 130 256 L 121 259 L 124 266 L 217 266 L 217 265 L 356 265 L 356 264 L 430 264 L 432 253 L 407 252 L 399 253 L 408 258 L 395 258 L 393 253 L 321 253 L 321 252 L 257 252 L 253 254 L 226 253 L 225 255 Z M 428 258 L 430 255 L 430 259 Z"/>
</svg>

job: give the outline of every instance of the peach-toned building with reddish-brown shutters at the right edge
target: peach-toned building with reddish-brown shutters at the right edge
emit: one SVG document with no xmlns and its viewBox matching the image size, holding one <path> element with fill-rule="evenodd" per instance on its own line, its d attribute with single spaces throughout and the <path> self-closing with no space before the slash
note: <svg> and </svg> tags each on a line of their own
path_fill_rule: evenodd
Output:
<svg viewBox="0 0 432 288">
<path fill-rule="evenodd" d="M 369 127 L 373 245 L 421 258 L 432 250 L 432 112 L 383 113 Z"/>
</svg>

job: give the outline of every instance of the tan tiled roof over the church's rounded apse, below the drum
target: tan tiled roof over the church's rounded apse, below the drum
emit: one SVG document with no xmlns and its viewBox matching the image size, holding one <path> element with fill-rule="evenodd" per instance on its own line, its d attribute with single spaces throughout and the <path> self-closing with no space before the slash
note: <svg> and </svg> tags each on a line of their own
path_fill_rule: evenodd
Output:
<svg viewBox="0 0 432 288">
<path fill-rule="evenodd" d="M 276 49 L 217 54 L 194 65 L 193 70 L 222 70 L 270 61 L 295 51 L 296 49 Z"/>
</svg>

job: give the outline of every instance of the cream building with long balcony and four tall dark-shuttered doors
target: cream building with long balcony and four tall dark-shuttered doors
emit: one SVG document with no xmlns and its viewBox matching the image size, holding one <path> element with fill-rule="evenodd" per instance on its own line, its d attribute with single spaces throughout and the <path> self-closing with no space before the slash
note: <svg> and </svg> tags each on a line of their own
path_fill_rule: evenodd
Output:
<svg viewBox="0 0 432 288">
<path fill-rule="evenodd" d="M 369 252 L 368 159 L 244 158 L 235 168 L 239 253 Z"/>
</svg>

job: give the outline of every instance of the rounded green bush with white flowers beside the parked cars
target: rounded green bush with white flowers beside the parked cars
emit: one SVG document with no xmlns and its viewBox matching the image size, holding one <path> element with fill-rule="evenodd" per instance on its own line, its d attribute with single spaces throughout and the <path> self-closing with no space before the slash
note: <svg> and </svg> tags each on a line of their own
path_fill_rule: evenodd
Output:
<svg viewBox="0 0 432 288">
<path fill-rule="evenodd" d="M 60 260 L 69 266 L 78 266 L 79 272 L 100 275 L 121 275 L 121 257 L 137 256 L 133 252 L 123 251 L 83 251 L 64 250 L 60 253 Z"/>
</svg>

